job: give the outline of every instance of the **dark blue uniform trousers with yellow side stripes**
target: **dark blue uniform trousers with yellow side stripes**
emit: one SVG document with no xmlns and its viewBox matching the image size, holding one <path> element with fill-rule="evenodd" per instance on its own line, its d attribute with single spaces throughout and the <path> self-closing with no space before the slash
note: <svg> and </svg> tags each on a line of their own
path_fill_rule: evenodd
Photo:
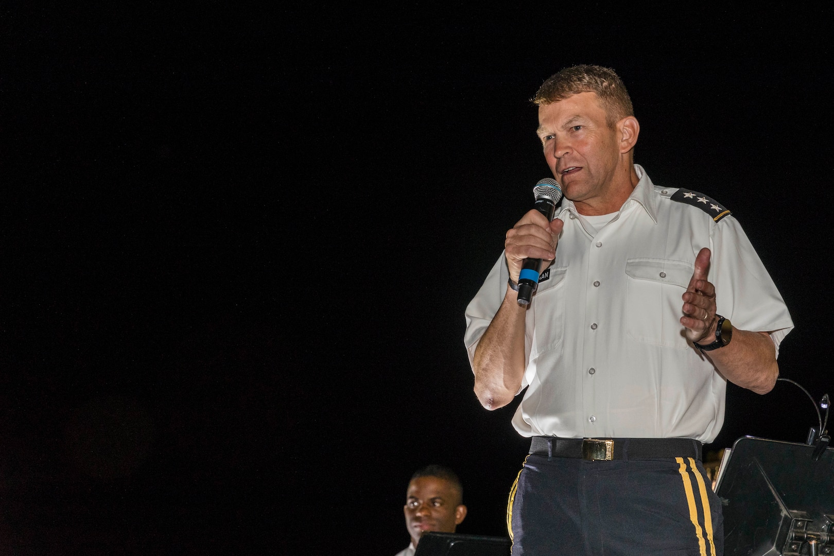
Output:
<svg viewBox="0 0 834 556">
<path fill-rule="evenodd" d="M 722 556 L 721 502 L 694 458 L 530 454 L 510 491 L 513 556 Z"/>
</svg>

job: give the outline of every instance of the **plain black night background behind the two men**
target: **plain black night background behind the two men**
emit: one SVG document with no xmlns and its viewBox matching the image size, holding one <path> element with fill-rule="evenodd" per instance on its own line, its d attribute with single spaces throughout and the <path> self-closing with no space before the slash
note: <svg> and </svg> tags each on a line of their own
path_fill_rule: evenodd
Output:
<svg viewBox="0 0 834 556">
<path fill-rule="evenodd" d="M 830 8 L 0 8 L 0 553 L 393 554 L 427 463 L 503 534 L 526 443 L 464 309 L 549 175 L 528 99 L 620 74 L 656 184 L 745 227 L 831 391 Z M 804 440 L 728 388 L 711 448 Z"/>
</svg>

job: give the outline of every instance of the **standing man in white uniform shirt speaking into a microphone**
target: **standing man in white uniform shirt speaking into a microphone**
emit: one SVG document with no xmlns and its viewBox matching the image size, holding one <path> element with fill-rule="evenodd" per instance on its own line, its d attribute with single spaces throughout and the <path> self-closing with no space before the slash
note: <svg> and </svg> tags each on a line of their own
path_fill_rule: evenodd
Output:
<svg viewBox="0 0 834 556">
<path fill-rule="evenodd" d="M 526 388 L 513 555 L 722 554 L 701 444 L 721 429 L 727 380 L 773 388 L 790 315 L 726 208 L 634 163 L 640 126 L 612 70 L 565 68 L 534 102 L 565 200 L 552 222 L 531 210 L 507 232 L 466 310 L 480 402 Z M 525 258 L 547 268 L 526 306 Z"/>
</svg>

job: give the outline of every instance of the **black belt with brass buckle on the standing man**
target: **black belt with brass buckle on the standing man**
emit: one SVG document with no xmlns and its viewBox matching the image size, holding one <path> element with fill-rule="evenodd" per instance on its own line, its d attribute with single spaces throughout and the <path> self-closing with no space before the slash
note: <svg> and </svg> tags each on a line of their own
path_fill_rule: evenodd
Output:
<svg viewBox="0 0 834 556">
<path fill-rule="evenodd" d="M 693 438 L 558 438 L 534 436 L 530 453 L 549 458 L 613 459 L 695 458 L 703 444 Z"/>
</svg>

